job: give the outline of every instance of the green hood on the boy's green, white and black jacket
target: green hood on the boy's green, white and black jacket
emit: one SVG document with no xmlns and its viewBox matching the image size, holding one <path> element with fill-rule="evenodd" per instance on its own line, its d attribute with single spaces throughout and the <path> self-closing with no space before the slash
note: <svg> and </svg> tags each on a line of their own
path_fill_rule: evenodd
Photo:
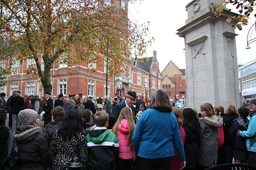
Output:
<svg viewBox="0 0 256 170">
<path fill-rule="evenodd" d="M 90 131 L 88 138 L 90 142 L 100 145 L 106 141 L 106 139 L 109 137 L 109 134 L 110 131 L 107 129 L 92 130 Z"/>
</svg>

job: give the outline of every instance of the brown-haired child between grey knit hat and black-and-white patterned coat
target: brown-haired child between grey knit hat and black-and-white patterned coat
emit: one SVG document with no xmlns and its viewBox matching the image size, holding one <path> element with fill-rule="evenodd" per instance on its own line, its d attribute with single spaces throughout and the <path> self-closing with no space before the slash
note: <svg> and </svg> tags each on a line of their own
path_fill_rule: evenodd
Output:
<svg viewBox="0 0 256 170">
<path fill-rule="evenodd" d="M 56 130 L 59 129 L 59 126 L 63 121 L 63 118 L 65 116 L 65 110 L 64 108 L 57 106 L 51 110 L 51 114 L 52 114 L 52 121 L 49 122 L 49 124 L 47 124 L 43 130 L 43 134 L 46 137 L 49 147 L 51 147 L 53 134 L 55 133 Z"/>
</svg>

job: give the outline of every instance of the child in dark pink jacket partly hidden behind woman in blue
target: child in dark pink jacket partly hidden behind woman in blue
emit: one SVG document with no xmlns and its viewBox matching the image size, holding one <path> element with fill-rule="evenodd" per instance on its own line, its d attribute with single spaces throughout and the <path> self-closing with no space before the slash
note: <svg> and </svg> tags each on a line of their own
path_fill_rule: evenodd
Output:
<svg viewBox="0 0 256 170">
<path fill-rule="evenodd" d="M 181 126 L 181 124 L 182 124 L 182 119 L 181 119 L 182 111 L 179 108 L 172 108 L 172 112 L 175 114 L 175 117 L 177 119 L 177 123 L 179 125 L 179 130 L 180 130 L 180 135 L 181 135 L 181 141 L 182 141 L 183 146 L 184 146 L 184 142 L 185 142 L 185 139 L 186 139 L 186 134 L 185 134 L 184 129 Z M 174 155 L 174 157 L 172 157 L 171 169 L 172 170 L 177 170 L 177 169 L 181 168 L 181 161 L 180 161 L 180 158 L 179 158 L 179 155 L 177 153 L 176 148 L 175 148 L 174 152 L 175 152 L 175 155 Z"/>
</svg>

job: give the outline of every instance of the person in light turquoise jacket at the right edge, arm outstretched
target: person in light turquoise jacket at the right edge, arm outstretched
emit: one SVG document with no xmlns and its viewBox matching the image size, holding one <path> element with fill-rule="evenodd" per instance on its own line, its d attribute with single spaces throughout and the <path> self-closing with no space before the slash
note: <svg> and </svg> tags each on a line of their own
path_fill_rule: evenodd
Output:
<svg viewBox="0 0 256 170">
<path fill-rule="evenodd" d="M 251 118 L 246 131 L 238 131 L 237 135 L 246 138 L 248 154 L 248 164 L 256 167 L 256 99 L 250 101 Z"/>
</svg>

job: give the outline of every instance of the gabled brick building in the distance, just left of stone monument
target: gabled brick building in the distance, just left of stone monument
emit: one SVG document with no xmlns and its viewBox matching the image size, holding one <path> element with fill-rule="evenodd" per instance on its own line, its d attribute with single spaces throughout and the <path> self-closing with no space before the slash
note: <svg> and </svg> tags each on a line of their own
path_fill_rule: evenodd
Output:
<svg viewBox="0 0 256 170">
<path fill-rule="evenodd" d="M 172 101 L 187 100 L 187 84 L 185 69 L 179 69 L 172 61 L 162 71 L 162 88 Z"/>
</svg>

